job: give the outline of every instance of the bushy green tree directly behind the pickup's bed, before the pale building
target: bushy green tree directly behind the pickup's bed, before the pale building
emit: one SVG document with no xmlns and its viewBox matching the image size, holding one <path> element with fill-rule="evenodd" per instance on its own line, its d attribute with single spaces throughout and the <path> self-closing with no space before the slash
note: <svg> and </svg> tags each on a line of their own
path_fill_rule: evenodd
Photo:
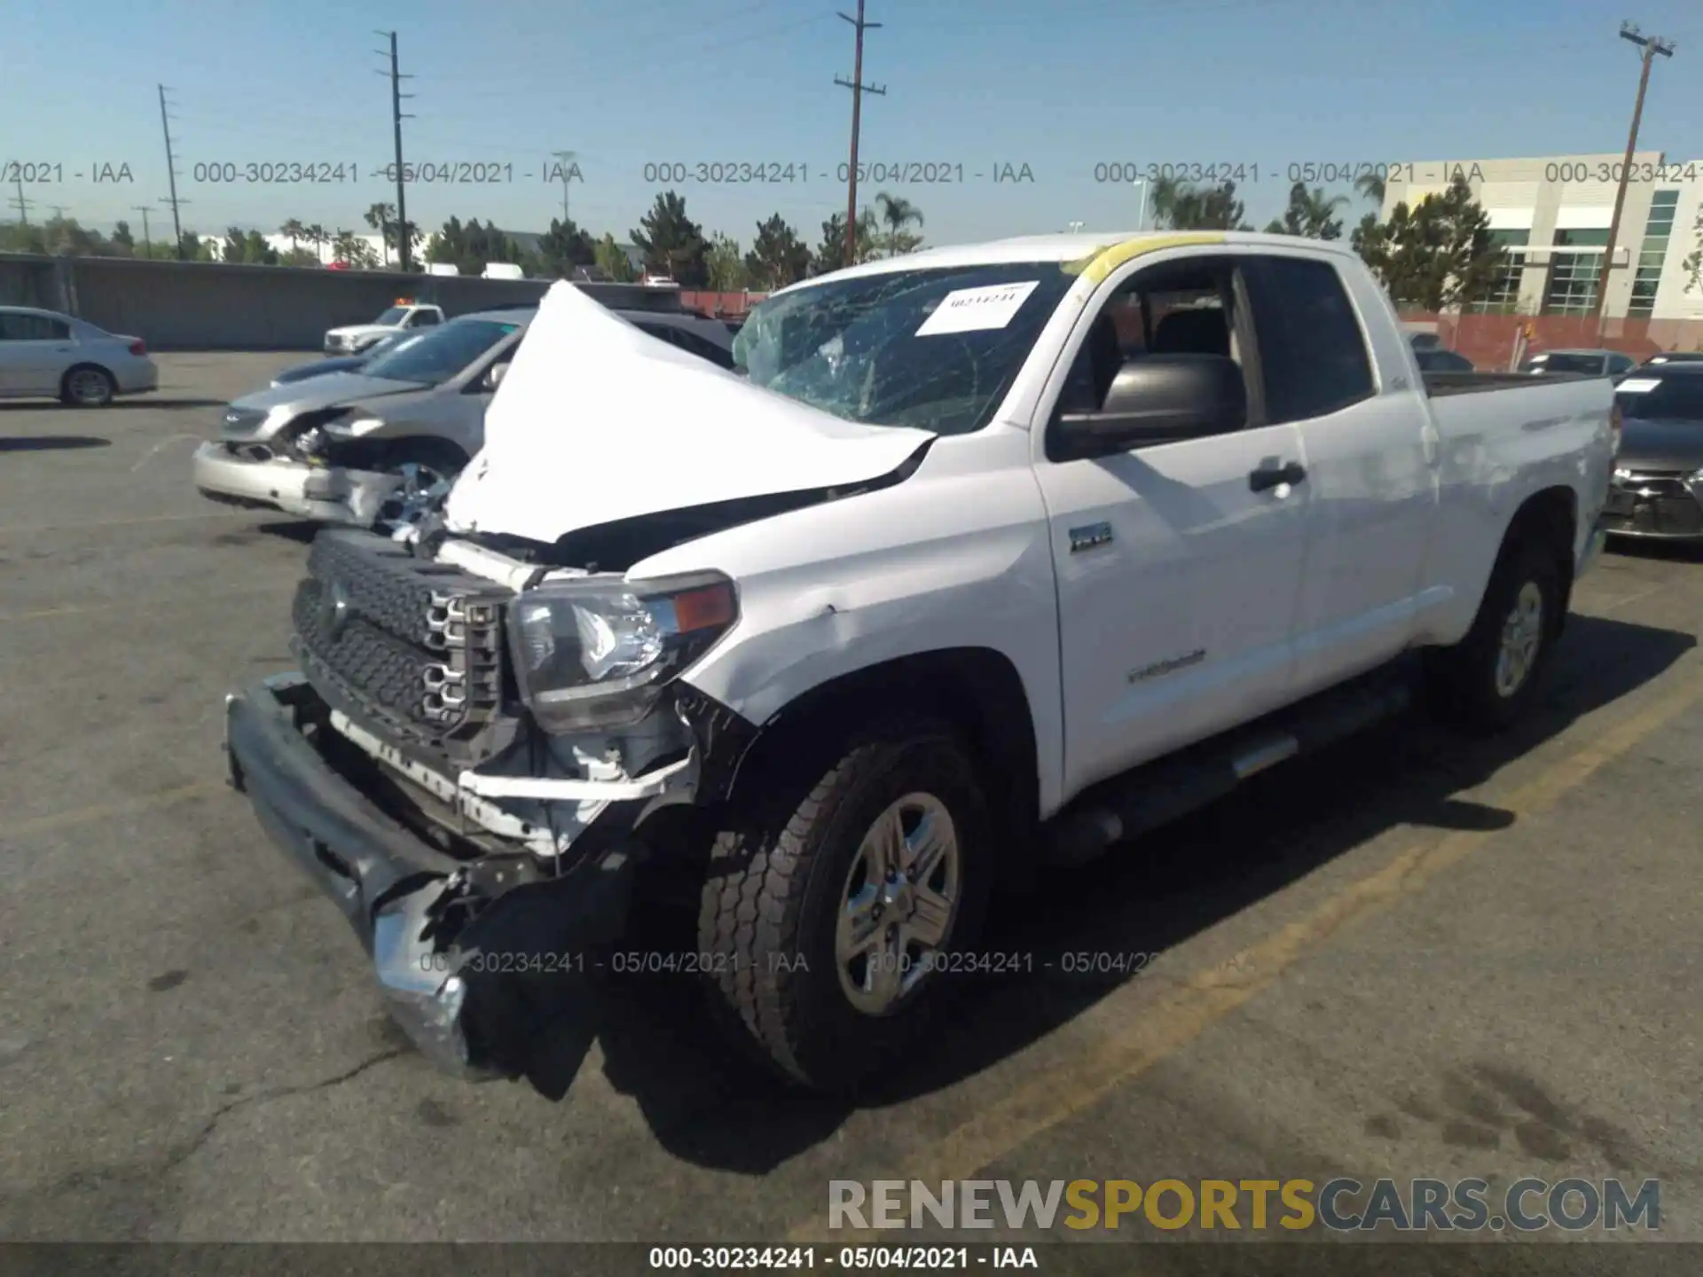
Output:
<svg viewBox="0 0 1703 1277">
<path fill-rule="evenodd" d="M 1362 220 L 1350 243 L 1396 303 L 1431 312 L 1477 301 L 1507 269 L 1507 252 L 1492 242 L 1490 218 L 1461 175 L 1413 208 L 1402 201 L 1383 225 Z"/>
</svg>

